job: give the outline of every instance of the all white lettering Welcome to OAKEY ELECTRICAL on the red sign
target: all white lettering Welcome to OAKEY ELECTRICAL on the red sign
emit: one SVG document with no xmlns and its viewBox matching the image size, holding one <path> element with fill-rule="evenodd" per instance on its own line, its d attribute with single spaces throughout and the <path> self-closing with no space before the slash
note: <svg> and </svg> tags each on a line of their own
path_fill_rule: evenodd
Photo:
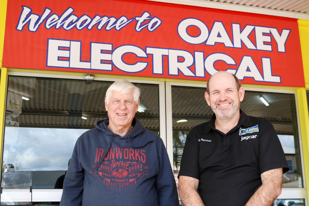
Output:
<svg viewBox="0 0 309 206">
<path fill-rule="evenodd" d="M 119 17 L 98 14 L 77 16 L 72 7 L 56 14 L 45 7 L 39 15 L 32 13 L 31 8 L 22 6 L 15 28 L 22 32 L 28 26 L 28 31 L 37 32 L 40 26 L 44 24 L 47 30 L 55 28 L 56 30 L 63 29 L 66 31 L 72 29 L 78 31 L 83 29 L 105 31 L 114 29 L 120 31 L 134 21 L 136 32 L 141 32 L 143 29 L 154 32 L 162 25 L 162 21 L 156 16 L 151 16 L 148 11 L 143 11 L 140 16 L 128 18 L 124 15 Z M 213 75 L 219 71 L 215 63 L 221 61 L 221 63 L 226 64 L 225 70 L 235 74 L 239 80 L 252 78 L 256 82 L 281 83 L 281 77 L 273 75 L 271 58 L 267 57 L 267 54 L 276 52 L 276 50 L 279 53 L 286 52 L 286 42 L 291 32 L 290 29 L 278 31 L 277 28 L 273 27 L 240 25 L 239 23 L 231 23 L 231 27 L 226 27 L 221 21 L 214 21 L 211 24 L 206 25 L 199 19 L 186 18 L 182 19 L 177 26 L 176 32 L 182 40 L 188 44 L 205 45 L 203 51 L 147 47 L 146 45 L 145 48 L 138 45 L 117 45 L 114 48 L 111 43 L 90 42 L 89 59 L 85 61 L 85 59 L 82 59 L 84 42 L 50 38 L 47 43 L 46 66 L 104 71 L 113 71 L 116 68 L 125 73 L 139 73 L 151 65 L 152 68 L 150 69 L 152 69 L 152 74 L 155 75 L 183 75 L 205 78 L 206 72 Z M 190 35 L 188 27 L 196 27 L 199 30 L 198 35 Z M 226 28 L 229 28 L 228 31 Z M 210 53 L 209 46 L 216 46 L 216 44 L 223 45 L 226 48 L 246 47 L 250 50 L 267 52 L 263 57 L 242 55 L 239 61 L 239 55 L 237 58 L 233 58 L 226 53 Z M 126 60 L 123 57 L 128 53 L 137 57 L 136 62 L 132 63 L 132 60 L 125 62 Z M 83 55 L 83 58 L 85 58 L 85 55 Z M 220 70 L 224 70 L 224 68 L 221 66 Z"/>
</svg>

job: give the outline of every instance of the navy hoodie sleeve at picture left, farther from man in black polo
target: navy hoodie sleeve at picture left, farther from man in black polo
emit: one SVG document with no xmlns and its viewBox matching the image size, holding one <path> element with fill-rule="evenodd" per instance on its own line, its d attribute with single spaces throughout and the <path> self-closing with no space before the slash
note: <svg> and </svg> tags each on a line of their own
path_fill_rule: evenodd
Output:
<svg viewBox="0 0 309 206">
<path fill-rule="evenodd" d="M 79 138 L 74 146 L 72 158 L 63 182 L 60 206 L 82 205 L 84 169 L 80 164 Z"/>
</svg>

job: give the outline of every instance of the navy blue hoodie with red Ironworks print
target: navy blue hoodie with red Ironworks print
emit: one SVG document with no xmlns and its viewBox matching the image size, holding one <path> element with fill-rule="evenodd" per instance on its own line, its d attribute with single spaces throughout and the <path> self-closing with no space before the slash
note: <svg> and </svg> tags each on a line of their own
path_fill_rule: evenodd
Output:
<svg viewBox="0 0 309 206">
<path fill-rule="evenodd" d="M 60 205 L 179 205 L 162 139 L 136 118 L 123 137 L 108 124 L 99 120 L 76 141 Z"/>
</svg>

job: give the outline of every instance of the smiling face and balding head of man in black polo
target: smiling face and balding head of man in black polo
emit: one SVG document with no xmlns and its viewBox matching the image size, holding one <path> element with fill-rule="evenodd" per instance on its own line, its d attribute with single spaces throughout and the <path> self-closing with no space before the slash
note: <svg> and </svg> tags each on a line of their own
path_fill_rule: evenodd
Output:
<svg viewBox="0 0 309 206">
<path fill-rule="evenodd" d="M 205 99 L 216 117 L 223 120 L 234 117 L 239 112 L 244 93 L 242 87 L 237 90 L 235 78 L 228 72 L 218 72 L 211 77 L 209 87 Z"/>
</svg>

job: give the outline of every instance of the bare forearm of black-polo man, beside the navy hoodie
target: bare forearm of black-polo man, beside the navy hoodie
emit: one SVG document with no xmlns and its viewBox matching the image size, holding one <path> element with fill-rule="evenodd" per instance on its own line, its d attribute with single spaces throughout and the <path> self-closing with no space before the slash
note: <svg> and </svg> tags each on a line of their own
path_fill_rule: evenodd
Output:
<svg viewBox="0 0 309 206">
<path fill-rule="evenodd" d="M 179 177 L 179 197 L 184 205 L 204 205 L 200 195 L 197 193 L 199 180 L 193 177 Z"/>
</svg>

